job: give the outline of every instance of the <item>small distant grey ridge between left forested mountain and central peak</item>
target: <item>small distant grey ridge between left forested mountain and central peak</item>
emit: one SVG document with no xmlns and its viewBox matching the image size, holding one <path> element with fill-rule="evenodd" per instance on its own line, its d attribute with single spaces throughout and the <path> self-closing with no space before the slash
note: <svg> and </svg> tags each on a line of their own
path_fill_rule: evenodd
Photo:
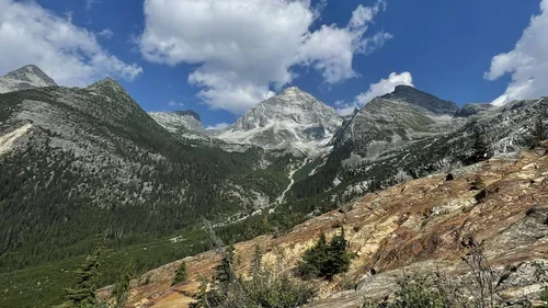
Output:
<svg viewBox="0 0 548 308">
<path fill-rule="evenodd" d="M 171 133 L 206 135 L 199 115 L 194 111 L 149 112 L 148 114 Z"/>
</svg>

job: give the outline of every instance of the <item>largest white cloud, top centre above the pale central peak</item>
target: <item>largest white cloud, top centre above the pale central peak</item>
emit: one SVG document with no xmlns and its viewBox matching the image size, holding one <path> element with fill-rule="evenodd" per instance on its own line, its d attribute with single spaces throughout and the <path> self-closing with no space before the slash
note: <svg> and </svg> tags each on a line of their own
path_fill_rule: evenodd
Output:
<svg viewBox="0 0 548 308">
<path fill-rule="evenodd" d="M 359 5 L 349 25 L 311 25 L 324 1 L 309 0 L 146 0 L 146 27 L 138 39 L 153 62 L 198 67 L 189 82 L 213 109 L 242 113 L 296 78 L 293 68 L 311 67 L 326 82 L 355 77 L 352 60 L 390 38 L 366 37 L 367 24 L 386 9 Z"/>
</svg>

